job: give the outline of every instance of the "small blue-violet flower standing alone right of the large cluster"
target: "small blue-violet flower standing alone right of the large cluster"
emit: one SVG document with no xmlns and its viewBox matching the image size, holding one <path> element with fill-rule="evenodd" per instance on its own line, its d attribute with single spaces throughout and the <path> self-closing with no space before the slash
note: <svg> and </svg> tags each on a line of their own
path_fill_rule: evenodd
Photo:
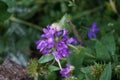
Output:
<svg viewBox="0 0 120 80">
<path fill-rule="evenodd" d="M 99 28 L 97 27 L 96 22 L 92 24 L 89 28 L 88 38 L 96 38 L 96 33 L 99 32 Z"/>
</svg>

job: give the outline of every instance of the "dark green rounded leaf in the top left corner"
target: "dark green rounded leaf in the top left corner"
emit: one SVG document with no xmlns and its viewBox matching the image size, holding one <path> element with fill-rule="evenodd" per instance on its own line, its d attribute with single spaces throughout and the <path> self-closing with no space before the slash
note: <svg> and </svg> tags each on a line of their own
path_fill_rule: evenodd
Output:
<svg viewBox="0 0 120 80">
<path fill-rule="evenodd" d="M 0 1 L 0 22 L 4 22 L 10 17 L 10 13 L 7 12 L 8 6 L 4 2 Z"/>
</svg>

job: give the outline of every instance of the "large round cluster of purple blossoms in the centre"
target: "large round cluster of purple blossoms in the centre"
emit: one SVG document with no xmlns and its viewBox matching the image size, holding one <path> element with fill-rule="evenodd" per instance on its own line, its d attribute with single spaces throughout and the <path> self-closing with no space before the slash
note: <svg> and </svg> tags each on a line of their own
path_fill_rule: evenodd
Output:
<svg viewBox="0 0 120 80">
<path fill-rule="evenodd" d="M 41 35 L 42 40 L 38 40 L 37 49 L 43 54 L 52 53 L 55 60 L 58 61 L 63 57 L 67 57 L 70 54 L 68 44 L 74 42 L 74 38 L 68 37 L 68 31 L 66 29 L 56 30 L 51 26 L 43 29 L 44 34 Z"/>
</svg>

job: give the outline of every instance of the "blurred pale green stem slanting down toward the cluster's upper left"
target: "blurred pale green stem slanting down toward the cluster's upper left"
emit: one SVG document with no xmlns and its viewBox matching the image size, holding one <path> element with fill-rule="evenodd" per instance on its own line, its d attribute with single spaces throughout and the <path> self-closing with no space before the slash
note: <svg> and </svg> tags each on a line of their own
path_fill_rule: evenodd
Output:
<svg viewBox="0 0 120 80">
<path fill-rule="evenodd" d="M 38 26 L 38 25 L 35 25 L 35 24 L 32 24 L 32 23 L 29 23 L 27 21 L 24 21 L 24 20 L 21 20 L 21 19 L 18 19 L 18 18 L 15 18 L 15 17 L 10 17 L 10 20 L 13 21 L 13 22 L 17 22 L 17 23 L 21 23 L 21 24 L 24 24 L 24 25 L 27 25 L 27 26 L 31 26 L 31 27 L 34 27 L 38 30 L 42 30 L 42 27 Z"/>
</svg>

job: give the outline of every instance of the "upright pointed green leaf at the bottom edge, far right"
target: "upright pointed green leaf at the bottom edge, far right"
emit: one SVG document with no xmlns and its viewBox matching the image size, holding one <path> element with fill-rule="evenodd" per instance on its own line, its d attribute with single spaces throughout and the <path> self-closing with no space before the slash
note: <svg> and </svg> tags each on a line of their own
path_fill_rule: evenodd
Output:
<svg viewBox="0 0 120 80">
<path fill-rule="evenodd" d="M 112 74 L 111 63 L 109 63 L 106 65 L 99 80 L 111 80 L 111 74 Z"/>
</svg>

